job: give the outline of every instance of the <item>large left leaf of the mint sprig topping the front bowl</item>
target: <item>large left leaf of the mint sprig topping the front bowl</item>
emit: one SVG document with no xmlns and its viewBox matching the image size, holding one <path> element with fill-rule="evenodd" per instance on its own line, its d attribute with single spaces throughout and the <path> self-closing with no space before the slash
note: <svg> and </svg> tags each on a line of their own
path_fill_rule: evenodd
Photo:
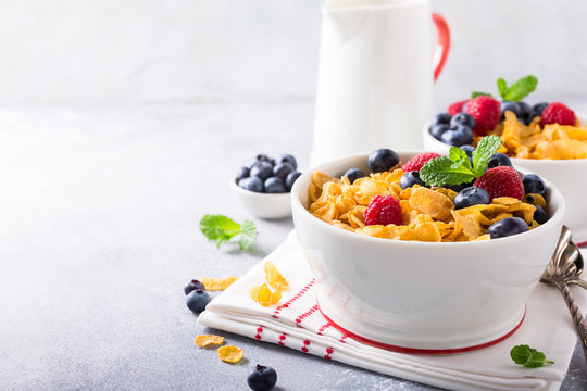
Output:
<svg viewBox="0 0 587 391">
<path fill-rule="evenodd" d="M 457 147 L 451 147 L 451 151 L 452 148 Z M 469 162 L 466 153 L 465 160 Z M 471 166 L 470 162 L 469 166 Z M 475 175 L 471 168 L 464 165 L 462 159 L 453 162 L 448 157 L 441 156 L 435 157 L 424 164 L 420 169 L 420 178 L 428 186 L 451 186 L 469 182 L 475 179 Z"/>
</svg>

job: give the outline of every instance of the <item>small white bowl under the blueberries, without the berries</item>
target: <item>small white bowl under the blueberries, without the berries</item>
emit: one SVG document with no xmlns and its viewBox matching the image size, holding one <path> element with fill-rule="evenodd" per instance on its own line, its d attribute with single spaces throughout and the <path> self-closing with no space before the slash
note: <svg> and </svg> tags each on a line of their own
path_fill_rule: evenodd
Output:
<svg viewBox="0 0 587 391">
<path fill-rule="evenodd" d="M 230 180 L 230 189 L 247 211 L 260 218 L 277 219 L 291 216 L 290 193 L 258 193 L 239 188 Z"/>
</svg>

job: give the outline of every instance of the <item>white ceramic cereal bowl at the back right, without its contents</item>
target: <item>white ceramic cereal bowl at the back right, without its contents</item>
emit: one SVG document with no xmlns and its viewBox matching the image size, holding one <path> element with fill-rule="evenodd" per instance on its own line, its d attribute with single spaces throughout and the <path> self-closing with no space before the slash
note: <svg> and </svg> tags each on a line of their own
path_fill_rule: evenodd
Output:
<svg viewBox="0 0 587 391">
<path fill-rule="evenodd" d="M 582 123 L 587 123 L 582 119 Z M 428 131 L 429 124 L 423 129 L 424 149 L 448 155 L 450 146 L 435 139 Z M 563 194 L 566 203 L 564 224 L 573 231 L 576 243 L 587 241 L 587 159 L 576 160 L 537 160 L 512 159 L 516 167 L 528 168 L 540 177 L 550 180 Z"/>
</svg>

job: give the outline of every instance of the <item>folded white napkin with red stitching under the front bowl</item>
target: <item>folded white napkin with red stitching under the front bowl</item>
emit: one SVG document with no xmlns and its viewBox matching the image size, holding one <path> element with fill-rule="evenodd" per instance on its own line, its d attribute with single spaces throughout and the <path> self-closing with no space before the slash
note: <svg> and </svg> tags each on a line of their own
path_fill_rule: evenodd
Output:
<svg viewBox="0 0 587 391">
<path fill-rule="evenodd" d="M 263 263 L 274 261 L 289 282 L 277 305 L 253 302 L 248 290 L 264 282 Z M 526 318 L 507 340 L 474 352 L 426 356 L 395 353 L 365 345 L 330 327 L 316 306 L 315 280 L 292 231 L 265 260 L 215 298 L 201 325 L 361 368 L 450 390 L 558 390 L 576 343 L 575 329 L 562 295 L 539 283 L 526 303 Z M 572 288 L 586 310 L 587 291 Z M 510 349 L 529 344 L 554 364 L 536 369 L 515 365 Z"/>
</svg>

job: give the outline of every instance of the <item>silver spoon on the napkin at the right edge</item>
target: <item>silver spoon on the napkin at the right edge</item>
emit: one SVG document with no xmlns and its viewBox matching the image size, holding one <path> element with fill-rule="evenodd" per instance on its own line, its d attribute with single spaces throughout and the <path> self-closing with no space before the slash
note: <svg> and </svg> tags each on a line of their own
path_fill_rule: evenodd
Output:
<svg viewBox="0 0 587 391">
<path fill-rule="evenodd" d="M 578 275 L 576 274 L 578 268 L 575 262 L 573 262 L 573 257 L 564 256 L 565 250 L 570 247 L 571 237 L 571 230 L 563 226 L 554 255 L 550 258 L 540 281 L 559 288 L 559 291 L 562 293 L 566 306 L 571 312 L 571 316 L 573 317 L 573 324 L 575 325 L 575 330 L 577 331 L 583 348 L 583 354 L 587 361 L 587 324 L 585 323 L 583 314 L 580 313 L 577 303 L 575 303 L 575 299 L 567 285 L 569 280 L 574 278 L 578 279 Z"/>
</svg>

